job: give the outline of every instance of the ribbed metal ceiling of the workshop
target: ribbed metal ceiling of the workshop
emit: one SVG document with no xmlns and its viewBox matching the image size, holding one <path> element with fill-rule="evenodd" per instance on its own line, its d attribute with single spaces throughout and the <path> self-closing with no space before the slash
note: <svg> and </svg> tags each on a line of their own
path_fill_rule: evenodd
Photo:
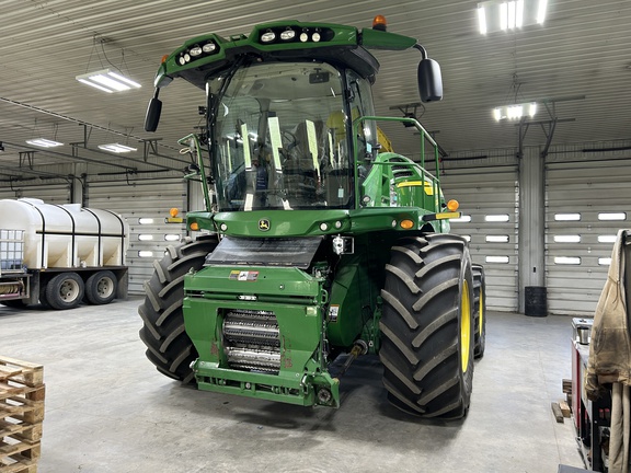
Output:
<svg viewBox="0 0 631 473">
<path fill-rule="evenodd" d="M 0 182 L 68 169 L 89 174 L 181 172 L 186 158 L 179 154 L 176 140 L 199 125 L 197 106 L 204 97 L 186 82 L 175 82 L 161 94 L 158 132 L 145 132 L 160 58 L 199 34 L 248 34 L 255 23 L 282 19 L 364 27 L 383 14 L 389 31 L 418 38 L 441 66 L 445 99 L 418 107 L 417 117 L 437 131 L 447 152 L 516 147 L 518 127 L 498 124 L 491 114 L 493 106 L 515 97 L 572 99 L 550 105 L 560 119 L 554 143 L 631 138 L 631 1 L 549 0 L 544 26 L 485 36 L 477 31 L 475 7 L 475 1 L 457 0 L 0 0 Z M 418 102 L 418 54 L 375 55 L 381 62 L 374 89 L 377 112 L 401 115 L 391 108 Z M 74 80 L 108 62 L 142 88 L 106 94 Z M 550 118 L 540 108 L 536 119 Z M 397 151 L 415 149 L 412 129 L 386 128 Z M 66 145 L 45 151 L 25 143 L 36 137 Z M 142 139 L 158 139 L 158 153 L 138 142 Z M 99 143 L 114 141 L 137 146 L 138 152 L 96 150 Z M 525 145 L 544 142 L 541 127 L 531 126 Z M 60 165 L 70 163 L 81 165 Z"/>
</svg>

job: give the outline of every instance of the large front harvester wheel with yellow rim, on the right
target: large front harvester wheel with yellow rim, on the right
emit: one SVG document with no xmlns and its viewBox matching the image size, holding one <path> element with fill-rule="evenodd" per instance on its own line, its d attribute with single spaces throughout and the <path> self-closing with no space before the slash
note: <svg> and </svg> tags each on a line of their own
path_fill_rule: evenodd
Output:
<svg viewBox="0 0 631 473">
<path fill-rule="evenodd" d="M 451 234 L 400 240 L 391 249 L 379 323 L 391 404 L 423 417 L 460 418 L 473 383 L 471 258 Z"/>
</svg>

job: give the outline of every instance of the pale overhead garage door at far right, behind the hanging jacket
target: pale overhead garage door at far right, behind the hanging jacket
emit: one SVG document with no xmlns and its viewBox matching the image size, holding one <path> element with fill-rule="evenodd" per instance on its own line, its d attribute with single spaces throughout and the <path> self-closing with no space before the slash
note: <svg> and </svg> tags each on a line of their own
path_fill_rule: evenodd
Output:
<svg viewBox="0 0 631 473">
<path fill-rule="evenodd" d="M 546 164 L 546 266 L 550 313 L 593 315 L 616 233 L 631 226 L 627 160 Z"/>
</svg>

